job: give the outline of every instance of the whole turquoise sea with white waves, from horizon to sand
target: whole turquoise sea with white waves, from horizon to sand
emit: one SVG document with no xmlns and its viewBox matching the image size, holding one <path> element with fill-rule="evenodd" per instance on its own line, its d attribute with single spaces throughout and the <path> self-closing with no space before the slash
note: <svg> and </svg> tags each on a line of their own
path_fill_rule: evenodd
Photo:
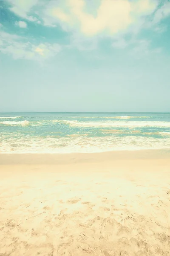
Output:
<svg viewBox="0 0 170 256">
<path fill-rule="evenodd" d="M 0 113 L 0 153 L 170 148 L 170 113 Z"/>
</svg>

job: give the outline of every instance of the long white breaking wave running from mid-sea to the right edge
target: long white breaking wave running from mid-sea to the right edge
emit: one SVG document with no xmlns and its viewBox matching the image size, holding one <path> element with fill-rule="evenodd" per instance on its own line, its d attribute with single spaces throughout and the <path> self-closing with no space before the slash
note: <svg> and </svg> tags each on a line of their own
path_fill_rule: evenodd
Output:
<svg viewBox="0 0 170 256">
<path fill-rule="evenodd" d="M 108 121 L 108 122 L 79 122 L 77 120 L 55 120 L 61 124 L 74 127 L 170 127 L 170 122 L 161 121 Z"/>
</svg>

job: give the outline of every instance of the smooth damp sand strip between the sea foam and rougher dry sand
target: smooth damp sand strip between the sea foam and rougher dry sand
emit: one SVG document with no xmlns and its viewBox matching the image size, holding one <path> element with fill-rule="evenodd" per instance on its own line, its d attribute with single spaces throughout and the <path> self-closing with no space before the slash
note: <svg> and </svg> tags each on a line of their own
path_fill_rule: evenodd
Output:
<svg viewBox="0 0 170 256">
<path fill-rule="evenodd" d="M 65 154 L 0 154 L 0 165 L 9 164 L 65 164 L 96 163 L 112 160 L 170 159 L 170 149 L 149 149 L 136 151 L 107 151 L 99 153 L 65 153 Z"/>
</svg>

